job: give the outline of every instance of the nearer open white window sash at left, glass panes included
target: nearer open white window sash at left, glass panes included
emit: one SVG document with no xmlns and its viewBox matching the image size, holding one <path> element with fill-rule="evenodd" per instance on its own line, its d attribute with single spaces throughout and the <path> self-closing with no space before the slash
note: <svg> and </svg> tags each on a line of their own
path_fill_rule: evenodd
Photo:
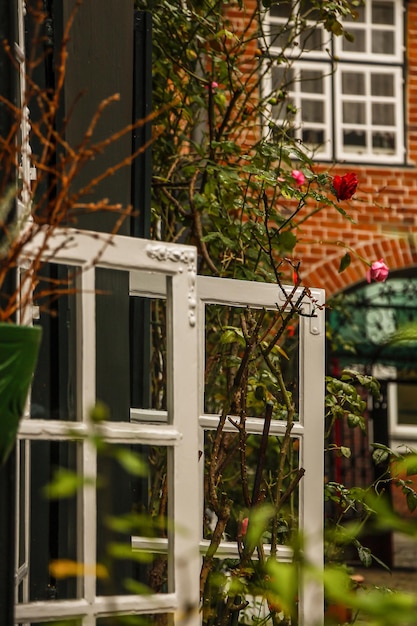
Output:
<svg viewBox="0 0 417 626">
<path fill-rule="evenodd" d="M 198 623 L 196 251 L 191 246 L 120 236 L 111 241 L 107 238 L 97 233 L 63 232 L 49 240 L 45 251 L 46 260 L 51 254 L 54 264 L 68 269 L 75 289 L 75 345 L 66 347 L 66 355 L 68 360 L 74 359 L 76 403 L 66 416 L 51 413 L 47 401 L 32 404 L 31 414 L 22 420 L 18 446 L 17 624 L 59 624 L 61 620 L 74 626 L 104 626 L 112 624 L 115 615 L 151 618 L 161 613 L 179 621 L 186 610 L 192 613 L 190 624 Z M 42 245 L 41 239 L 33 243 L 35 250 Z M 135 277 L 139 284 L 136 292 L 144 292 L 145 297 L 149 272 L 165 284 L 164 423 L 137 423 L 122 414 L 123 407 L 120 415 L 110 415 L 99 424 L 89 418 L 97 400 L 97 351 L 103 339 L 97 333 L 97 299 L 110 297 L 109 292 L 97 291 L 97 275 L 103 269 L 114 273 L 114 284 L 120 281 L 127 286 L 126 298 L 126 276 Z M 65 317 L 63 321 L 65 326 Z M 114 323 L 118 323 L 117 316 Z M 68 383 L 71 380 L 68 375 Z M 93 441 L 97 434 L 105 446 L 104 450 L 103 445 L 99 447 L 101 452 Z M 148 474 L 142 477 L 124 471 L 124 461 L 132 459 L 136 451 L 145 460 L 150 448 L 164 456 L 168 467 L 166 497 L 171 523 L 160 527 L 166 541 L 164 584 L 155 592 L 141 594 L 144 566 L 132 550 L 131 531 L 121 533 L 114 529 L 114 523 L 117 518 L 126 522 L 126 516 L 140 514 L 138 507 L 151 489 Z M 69 498 L 48 501 L 43 488 L 53 480 L 55 471 L 71 476 L 71 480 L 78 477 L 78 489 Z M 127 507 L 119 507 L 114 514 L 103 506 L 111 490 L 116 504 L 127 500 Z M 126 493 L 130 498 L 125 497 Z M 103 511 L 106 519 L 102 519 Z M 141 519 L 140 515 L 135 519 Z M 118 538 L 114 533 L 106 535 L 110 531 L 118 532 Z M 106 551 L 100 549 L 103 542 L 121 569 L 109 564 Z M 148 553 L 156 559 L 160 537 L 150 533 L 148 544 Z M 132 566 L 126 569 L 128 563 Z"/>
</svg>

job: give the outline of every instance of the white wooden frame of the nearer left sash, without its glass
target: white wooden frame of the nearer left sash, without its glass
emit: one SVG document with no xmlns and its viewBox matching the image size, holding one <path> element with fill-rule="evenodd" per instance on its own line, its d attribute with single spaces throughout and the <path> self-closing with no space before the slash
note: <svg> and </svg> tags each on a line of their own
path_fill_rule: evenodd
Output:
<svg viewBox="0 0 417 626">
<path fill-rule="evenodd" d="M 40 233 L 25 250 L 27 258 L 42 248 Z M 77 421 L 22 420 L 19 440 L 74 441 L 78 438 L 79 468 L 92 479 L 83 484 L 77 511 L 78 561 L 86 564 L 88 575 L 79 580 L 77 599 L 29 602 L 27 577 L 30 547 L 16 574 L 23 585 L 23 602 L 16 604 L 15 623 L 40 623 L 78 618 L 82 626 L 95 626 L 96 619 L 115 614 L 171 613 L 180 623 L 184 610 L 191 609 L 189 624 L 199 624 L 199 479 L 196 328 L 196 249 L 192 246 L 156 243 L 122 236 L 60 231 L 49 239 L 45 261 L 80 267 L 77 277 Z M 24 261 L 25 259 L 23 259 Z M 170 531 L 167 593 L 150 595 L 100 596 L 96 593 L 97 560 L 97 451 L 85 438 L 88 414 L 96 403 L 95 269 L 104 267 L 129 272 L 140 283 L 143 273 L 155 272 L 166 282 L 168 341 L 168 420 L 164 424 L 104 422 L 102 434 L 111 443 L 166 446 L 173 480 L 169 486 L 169 517 L 182 532 Z M 144 281 L 144 284 L 146 281 Z M 193 367 L 193 364 L 195 365 Z M 26 447 L 28 443 L 26 444 Z M 28 464 L 27 464 L 28 466 Z M 26 480 L 30 477 L 27 475 Z M 30 506 L 25 490 L 24 510 L 19 513 L 27 533 Z M 184 506 L 184 493 L 187 506 Z M 19 498 L 18 498 L 19 501 Z M 26 541 L 28 540 L 28 535 Z M 17 546 L 19 553 L 19 546 Z M 158 542 L 153 546 L 158 552 Z"/>
</svg>

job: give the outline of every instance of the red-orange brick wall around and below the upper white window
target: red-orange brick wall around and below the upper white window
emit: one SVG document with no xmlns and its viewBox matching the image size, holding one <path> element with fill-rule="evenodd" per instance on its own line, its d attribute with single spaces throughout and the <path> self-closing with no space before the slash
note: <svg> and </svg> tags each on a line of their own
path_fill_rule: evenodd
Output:
<svg viewBox="0 0 417 626">
<path fill-rule="evenodd" d="M 392 271 L 417 265 L 417 0 L 404 4 L 407 4 L 407 165 L 330 166 L 332 174 L 355 171 L 358 175 L 356 200 L 343 203 L 355 223 L 326 208 L 303 223 L 298 231 L 300 242 L 294 257 L 301 260 L 303 283 L 324 288 L 327 296 L 365 279 L 367 267 L 353 256 L 350 267 L 338 273 L 345 253 L 338 241 L 351 246 L 370 262 L 383 258 Z M 255 5 L 254 0 L 246 1 L 246 15 L 251 15 Z M 244 13 L 231 9 L 230 18 L 236 31 L 241 31 Z M 246 59 L 248 63 L 251 54 L 252 48 Z"/>
</svg>

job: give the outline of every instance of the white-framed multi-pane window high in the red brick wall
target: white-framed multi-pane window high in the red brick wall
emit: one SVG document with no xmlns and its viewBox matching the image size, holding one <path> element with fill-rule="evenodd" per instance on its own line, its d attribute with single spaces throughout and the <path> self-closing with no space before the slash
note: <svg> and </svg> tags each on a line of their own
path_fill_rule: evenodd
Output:
<svg viewBox="0 0 417 626">
<path fill-rule="evenodd" d="M 265 81 L 265 93 L 279 94 L 272 118 L 287 120 L 287 132 L 316 158 L 403 163 L 403 2 L 358 7 L 345 24 L 353 41 L 314 28 L 314 11 L 310 0 L 280 2 L 266 16 L 267 43 L 277 55 Z"/>
</svg>

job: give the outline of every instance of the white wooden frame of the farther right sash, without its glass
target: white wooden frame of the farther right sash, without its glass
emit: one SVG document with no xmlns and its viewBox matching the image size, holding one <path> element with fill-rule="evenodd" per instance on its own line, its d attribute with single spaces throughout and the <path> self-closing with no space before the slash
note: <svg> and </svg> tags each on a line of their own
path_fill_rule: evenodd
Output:
<svg viewBox="0 0 417 626">
<path fill-rule="evenodd" d="M 294 291 L 287 287 L 280 291 L 277 285 L 268 283 L 253 283 L 249 281 L 231 280 L 199 276 L 198 310 L 200 319 L 205 319 L 207 304 L 223 304 L 250 308 L 267 308 L 275 310 L 277 304 L 285 306 L 287 297 L 292 294 L 296 301 L 301 290 Z M 323 568 L 323 515 L 324 515 L 324 335 L 325 318 L 324 308 L 316 308 L 315 303 L 324 304 L 324 291 L 311 289 L 310 297 L 305 297 L 300 316 L 300 347 L 299 347 L 299 421 L 294 423 L 291 437 L 300 442 L 300 467 L 305 469 L 305 475 L 300 481 L 299 493 L 299 528 L 304 540 L 304 554 L 316 572 Z M 205 362 L 205 327 L 199 326 L 200 334 L 200 448 L 204 450 L 204 431 L 215 430 L 219 417 L 204 413 L 204 368 Z M 263 420 L 247 417 L 245 420 L 248 433 L 261 434 Z M 227 429 L 233 429 L 230 424 Z M 271 424 L 271 435 L 284 435 L 286 422 L 276 420 Z M 202 468 L 200 468 L 202 471 Z M 201 476 L 201 485 L 203 476 Z M 201 510 L 203 510 L 203 496 L 201 495 Z M 202 528 L 202 526 L 201 526 Z M 202 541 L 208 546 L 208 541 Z M 236 557 L 238 548 L 235 542 L 221 542 L 219 555 L 225 558 Z M 286 546 L 278 549 L 279 561 L 291 562 L 291 551 Z M 323 586 L 314 579 L 308 578 L 302 572 L 302 581 L 299 589 L 299 624 L 300 626 L 315 626 L 323 622 L 324 592 Z"/>
</svg>

